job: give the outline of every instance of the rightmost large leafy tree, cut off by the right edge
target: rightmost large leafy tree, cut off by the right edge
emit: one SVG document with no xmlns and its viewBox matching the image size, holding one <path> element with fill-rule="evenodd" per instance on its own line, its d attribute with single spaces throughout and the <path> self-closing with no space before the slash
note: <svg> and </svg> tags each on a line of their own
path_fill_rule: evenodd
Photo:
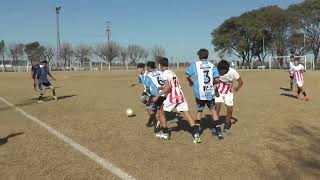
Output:
<svg viewBox="0 0 320 180">
<path fill-rule="evenodd" d="M 289 6 L 288 11 L 294 17 L 298 30 L 306 34 L 306 46 L 314 55 L 314 62 L 319 58 L 320 50 L 320 1 L 308 0 Z"/>
</svg>

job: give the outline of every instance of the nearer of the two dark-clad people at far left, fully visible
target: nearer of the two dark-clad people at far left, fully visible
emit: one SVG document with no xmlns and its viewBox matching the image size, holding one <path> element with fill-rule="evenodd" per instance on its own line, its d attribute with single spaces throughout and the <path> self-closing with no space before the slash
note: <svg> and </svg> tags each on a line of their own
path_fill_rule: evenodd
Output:
<svg viewBox="0 0 320 180">
<path fill-rule="evenodd" d="M 48 62 L 47 61 L 42 61 L 38 70 L 37 70 L 37 80 L 38 80 L 38 85 L 40 89 L 40 96 L 38 99 L 38 102 L 42 102 L 43 94 L 46 89 L 51 89 L 52 94 L 53 94 L 53 99 L 58 100 L 56 96 L 56 91 L 55 88 L 51 85 L 51 83 L 48 80 L 48 75 L 55 80 L 55 78 L 51 75 L 49 68 L 48 68 Z"/>
</svg>

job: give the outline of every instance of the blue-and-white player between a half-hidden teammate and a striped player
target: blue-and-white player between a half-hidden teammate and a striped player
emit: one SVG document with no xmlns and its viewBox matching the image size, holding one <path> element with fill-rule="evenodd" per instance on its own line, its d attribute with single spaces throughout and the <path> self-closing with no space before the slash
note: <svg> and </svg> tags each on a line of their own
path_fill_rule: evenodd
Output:
<svg viewBox="0 0 320 180">
<path fill-rule="evenodd" d="M 159 94 L 161 91 L 161 86 L 163 86 L 163 80 L 161 79 L 162 72 L 156 70 L 156 63 L 153 61 L 147 62 L 147 75 L 145 78 L 144 85 L 146 87 L 146 92 L 150 95 L 147 102 L 147 112 L 149 114 L 149 120 L 146 124 L 147 127 L 156 126 L 157 111 L 160 109 L 163 101 L 166 99 L 165 94 L 160 96 L 156 102 L 152 102 L 152 98 Z"/>
</svg>

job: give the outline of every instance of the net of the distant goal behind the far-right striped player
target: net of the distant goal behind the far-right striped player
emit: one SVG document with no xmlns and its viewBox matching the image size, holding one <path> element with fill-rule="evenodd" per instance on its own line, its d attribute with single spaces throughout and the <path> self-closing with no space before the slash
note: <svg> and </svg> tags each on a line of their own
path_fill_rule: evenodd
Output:
<svg viewBox="0 0 320 180">
<path fill-rule="evenodd" d="M 300 64 L 302 64 L 306 70 L 314 70 L 314 62 L 307 60 L 307 56 L 294 56 L 300 58 Z M 269 69 L 288 69 L 290 62 L 290 56 L 271 56 L 269 58 Z"/>
</svg>

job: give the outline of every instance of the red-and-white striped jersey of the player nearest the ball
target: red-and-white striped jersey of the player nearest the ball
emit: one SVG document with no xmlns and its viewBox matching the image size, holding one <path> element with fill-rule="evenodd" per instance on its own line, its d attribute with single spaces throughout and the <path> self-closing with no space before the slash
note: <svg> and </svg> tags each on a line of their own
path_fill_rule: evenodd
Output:
<svg viewBox="0 0 320 180">
<path fill-rule="evenodd" d="M 177 75 L 173 71 L 167 69 L 162 72 L 162 79 L 163 81 L 167 81 L 170 85 L 170 91 L 167 95 L 167 99 L 169 99 L 169 102 L 177 104 L 183 103 L 185 101 L 185 98 L 181 90 Z"/>
</svg>

